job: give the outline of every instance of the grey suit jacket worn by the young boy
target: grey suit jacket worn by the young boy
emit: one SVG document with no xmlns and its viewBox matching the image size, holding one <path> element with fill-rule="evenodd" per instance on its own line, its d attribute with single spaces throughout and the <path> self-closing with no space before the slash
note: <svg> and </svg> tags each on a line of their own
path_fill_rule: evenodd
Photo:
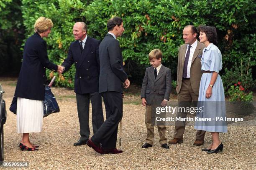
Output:
<svg viewBox="0 0 256 170">
<path fill-rule="evenodd" d="M 141 98 L 145 98 L 147 105 L 151 105 L 154 98 L 159 102 L 169 100 L 172 91 L 171 70 L 164 65 L 161 66 L 158 75 L 155 78 L 154 67 L 146 68 L 145 76 L 141 87 Z"/>
</svg>

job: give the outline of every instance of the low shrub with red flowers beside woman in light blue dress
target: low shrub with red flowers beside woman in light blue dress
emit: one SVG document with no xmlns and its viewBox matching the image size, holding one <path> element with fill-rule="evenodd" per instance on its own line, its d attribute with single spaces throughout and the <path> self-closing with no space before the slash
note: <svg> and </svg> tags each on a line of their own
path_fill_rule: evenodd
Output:
<svg viewBox="0 0 256 170">
<path fill-rule="evenodd" d="M 228 95 L 230 96 L 230 101 L 251 101 L 253 99 L 253 92 L 245 92 L 245 88 L 242 86 L 241 82 L 231 85 L 228 90 Z"/>
</svg>

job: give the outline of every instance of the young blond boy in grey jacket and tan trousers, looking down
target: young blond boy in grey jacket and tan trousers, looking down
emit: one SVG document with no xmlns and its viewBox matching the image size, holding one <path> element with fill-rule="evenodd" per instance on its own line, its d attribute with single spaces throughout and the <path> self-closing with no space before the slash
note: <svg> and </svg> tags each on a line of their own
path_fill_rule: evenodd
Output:
<svg viewBox="0 0 256 170">
<path fill-rule="evenodd" d="M 148 54 L 148 59 L 151 67 L 146 68 L 141 87 L 142 105 L 146 106 L 145 124 L 147 128 L 146 143 L 142 145 L 142 148 L 152 147 L 154 140 L 154 125 L 152 125 L 152 121 L 154 121 L 153 118 L 156 115 L 155 107 L 165 107 L 172 90 L 171 70 L 161 64 L 161 50 L 152 50 Z M 161 147 L 169 149 L 165 138 L 166 126 L 164 124 L 157 125 L 157 129 Z"/>
</svg>

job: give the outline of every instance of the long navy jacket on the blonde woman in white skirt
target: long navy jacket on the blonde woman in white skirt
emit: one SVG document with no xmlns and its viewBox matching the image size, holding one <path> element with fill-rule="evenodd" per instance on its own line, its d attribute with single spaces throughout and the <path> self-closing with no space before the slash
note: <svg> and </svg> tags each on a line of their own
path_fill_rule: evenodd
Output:
<svg viewBox="0 0 256 170">
<path fill-rule="evenodd" d="M 14 96 L 44 100 L 46 68 L 58 70 L 58 66 L 49 61 L 46 41 L 38 33 L 34 33 L 24 46 L 23 62 Z"/>
</svg>

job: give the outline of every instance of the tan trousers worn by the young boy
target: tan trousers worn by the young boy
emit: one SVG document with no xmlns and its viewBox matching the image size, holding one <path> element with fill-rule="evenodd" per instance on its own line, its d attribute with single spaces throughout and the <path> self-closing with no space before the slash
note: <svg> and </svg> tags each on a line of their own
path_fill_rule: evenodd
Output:
<svg viewBox="0 0 256 170">
<path fill-rule="evenodd" d="M 154 125 L 152 125 L 151 120 L 151 113 L 152 113 L 152 107 L 151 105 L 146 105 L 146 114 L 145 114 L 145 124 L 147 128 L 147 138 L 146 143 L 149 143 L 150 145 L 153 145 L 154 141 Z M 156 123 L 155 123 L 156 124 Z M 165 125 L 157 125 L 158 133 L 159 133 L 159 143 L 163 145 L 164 143 L 167 143 L 167 139 L 165 138 L 165 131 L 166 126 Z"/>
</svg>

